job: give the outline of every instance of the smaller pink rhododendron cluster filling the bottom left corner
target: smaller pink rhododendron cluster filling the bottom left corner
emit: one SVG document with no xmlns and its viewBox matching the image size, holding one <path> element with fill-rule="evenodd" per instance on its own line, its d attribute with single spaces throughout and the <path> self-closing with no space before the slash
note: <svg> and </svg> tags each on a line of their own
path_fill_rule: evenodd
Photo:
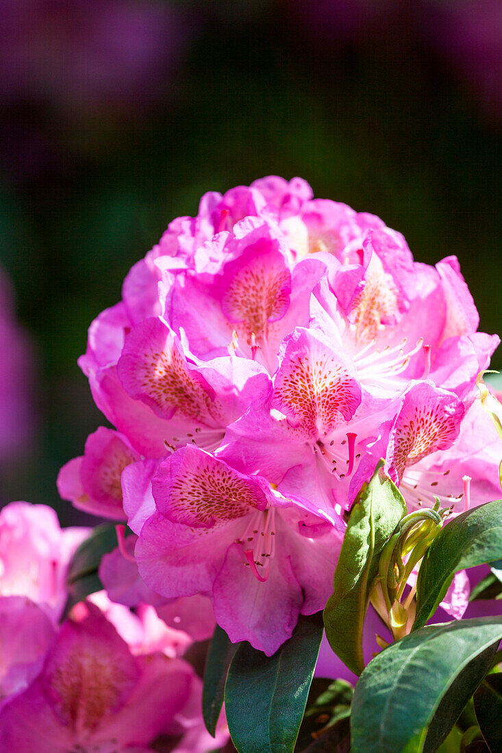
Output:
<svg viewBox="0 0 502 753">
<path fill-rule="evenodd" d="M 0 513 L 0 750 L 148 753 L 159 737 L 177 753 L 224 745 L 225 720 L 216 739 L 207 733 L 202 682 L 182 659 L 188 633 L 105 592 L 63 618 L 69 558 L 89 533 L 61 531 L 44 505 Z"/>
</svg>

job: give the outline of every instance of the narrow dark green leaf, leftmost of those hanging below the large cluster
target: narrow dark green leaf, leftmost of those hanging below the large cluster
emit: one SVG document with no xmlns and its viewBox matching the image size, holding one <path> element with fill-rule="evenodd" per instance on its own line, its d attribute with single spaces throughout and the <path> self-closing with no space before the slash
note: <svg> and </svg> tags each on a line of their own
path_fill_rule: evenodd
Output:
<svg viewBox="0 0 502 753">
<path fill-rule="evenodd" d="M 204 690 L 202 691 L 204 724 L 213 737 L 215 736 L 216 724 L 218 724 L 219 712 L 222 710 L 228 667 L 239 645 L 232 643 L 225 630 L 216 625 L 210 650 L 207 654 Z"/>
</svg>

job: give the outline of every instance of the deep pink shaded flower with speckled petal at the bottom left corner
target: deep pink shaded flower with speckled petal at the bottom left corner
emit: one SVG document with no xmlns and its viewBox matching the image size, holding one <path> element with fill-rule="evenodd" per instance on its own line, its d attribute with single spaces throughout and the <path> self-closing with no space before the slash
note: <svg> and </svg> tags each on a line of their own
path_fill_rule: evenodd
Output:
<svg viewBox="0 0 502 753">
<path fill-rule="evenodd" d="M 93 605 L 66 620 L 44 667 L 22 694 L 0 711 L 0 748 L 20 753 L 73 749 L 148 753 L 158 736 L 184 736 L 194 751 L 222 745 L 204 730 L 200 680 L 188 663 L 162 653 L 134 656 L 115 627 Z M 211 743 L 210 743 L 211 741 Z"/>
</svg>

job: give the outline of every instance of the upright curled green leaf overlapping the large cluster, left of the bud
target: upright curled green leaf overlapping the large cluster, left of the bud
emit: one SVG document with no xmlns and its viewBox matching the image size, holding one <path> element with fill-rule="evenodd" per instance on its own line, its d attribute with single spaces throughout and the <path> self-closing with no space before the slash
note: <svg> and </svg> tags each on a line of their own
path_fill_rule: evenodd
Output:
<svg viewBox="0 0 502 753">
<path fill-rule="evenodd" d="M 378 559 L 406 515 L 403 496 L 382 466 L 383 461 L 354 502 L 335 569 L 333 593 L 324 609 L 329 644 L 357 675 L 364 669 L 363 622 L 369 590 L 378 575 Z"/>
</svg>

